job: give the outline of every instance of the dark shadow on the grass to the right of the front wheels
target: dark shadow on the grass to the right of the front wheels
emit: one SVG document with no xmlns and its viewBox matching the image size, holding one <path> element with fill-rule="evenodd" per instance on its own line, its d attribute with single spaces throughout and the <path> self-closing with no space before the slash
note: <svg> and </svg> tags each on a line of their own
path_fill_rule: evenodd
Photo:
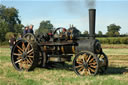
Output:
<svg viewBox="0 0 128 85">
<path fill-rule="evenodd" d="M 108 67 L 106 71 L 106 75 L 126 73 L 128 73 L 128 67 Z"/>
</svg>

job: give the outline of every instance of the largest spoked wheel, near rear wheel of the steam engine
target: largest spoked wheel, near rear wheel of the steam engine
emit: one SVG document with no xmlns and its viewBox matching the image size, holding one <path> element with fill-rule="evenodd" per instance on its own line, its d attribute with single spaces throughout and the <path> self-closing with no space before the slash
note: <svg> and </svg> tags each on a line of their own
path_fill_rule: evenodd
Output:
<svg viewBox="0 0 128 85">
<path fill-rule="evenodd" d="M 36 44 L 19 40 L 11 52 L 11 61 L 16 70 L 33 70 L 37 65 L 38 50 Z"/>
</svg>

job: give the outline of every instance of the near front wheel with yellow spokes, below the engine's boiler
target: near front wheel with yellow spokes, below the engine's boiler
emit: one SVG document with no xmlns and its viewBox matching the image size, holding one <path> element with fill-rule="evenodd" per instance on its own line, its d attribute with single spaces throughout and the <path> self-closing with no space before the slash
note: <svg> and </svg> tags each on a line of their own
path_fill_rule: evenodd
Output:
<svg viewBox="0 0 128 85">
<path fill-rule="evenodd" d="M 98 72 L 98 58 L 92 52 L 84 51 L 76 55 L 73 60 L 73 68 L 77 75 L 96 75 Z"/>
</svg>

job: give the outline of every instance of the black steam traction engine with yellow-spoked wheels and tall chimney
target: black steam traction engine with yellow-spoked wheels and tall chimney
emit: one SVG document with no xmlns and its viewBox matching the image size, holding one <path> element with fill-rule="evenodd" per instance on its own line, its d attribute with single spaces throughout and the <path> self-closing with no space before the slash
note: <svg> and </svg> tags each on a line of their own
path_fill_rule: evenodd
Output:
<svg viewBox="0 0 128 85">
<path fill-rule="evenodd" d="M 24 35 L 18 40 L 11 52 L 11 61 L 16 70 L 33 70 L 39 63 L 46 67 L 49 62 L 71 61 L 77 75 L 96 75 L 104 73 L 108 67 L 107 56 L 100 42 L 95 39 L 95 9 L 89 9 L 90 36 L 78 40 L 77 34 L 70 30 L 64 34 L 57 28 L 52 34 Z"/>
</svg>

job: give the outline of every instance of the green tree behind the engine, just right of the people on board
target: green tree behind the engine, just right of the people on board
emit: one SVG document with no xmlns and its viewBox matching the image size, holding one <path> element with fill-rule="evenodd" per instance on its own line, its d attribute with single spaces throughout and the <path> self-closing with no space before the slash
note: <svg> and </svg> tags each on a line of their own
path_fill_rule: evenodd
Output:
<svg viewBox="0 0 128 85">
<path fill-rule="evenodd" d="M 38 33 L 47 33 L 49 30 L 53 29 L 53 25 L 49 20 L 41 21 L 39 28 L 36 30 L 36 34 Z"/>
</svg>

